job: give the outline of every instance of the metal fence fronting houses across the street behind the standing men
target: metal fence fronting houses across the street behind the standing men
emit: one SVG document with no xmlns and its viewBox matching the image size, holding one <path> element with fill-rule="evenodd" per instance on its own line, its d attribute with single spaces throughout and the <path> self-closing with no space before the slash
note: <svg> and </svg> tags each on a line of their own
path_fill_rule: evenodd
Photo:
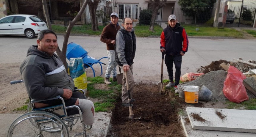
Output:
<svg viewBox="0 0 256 137">
<path fill-rule="evenodd" d="M 187 10 L 188 13 L 184 13 L 183 10 Z M 181 23 L 191 24 L 191 23 L 205 23 L 214 17 L 216 8 L 215 7 L 172 7 L 172 12 L 170 14 L 175 14 L 177 19 Z M 157 12 L 155 19 L 155 25 L 161 26 L 162 23 L 162 11 L 160 8 Z M 123 18 L 129 17 L 133 21 L 133 26 L 148 26 L 152 16 L 152 10 L 148 7 L 138 7 L 138 4 L 118 4 L 117 7 L 111 6 L 98 6 L 97 7 L 97 19 L 98 23 L 102 25 L 107 25 L 110 21 L 110 14 L 116 12 L 119 15 L 118 23 L 121 24 Z M 90 12 L 85 10 L 85 23 L 90 22 Z M 167 22 L 167 21 L 166 21 Z"/>
</svg>

